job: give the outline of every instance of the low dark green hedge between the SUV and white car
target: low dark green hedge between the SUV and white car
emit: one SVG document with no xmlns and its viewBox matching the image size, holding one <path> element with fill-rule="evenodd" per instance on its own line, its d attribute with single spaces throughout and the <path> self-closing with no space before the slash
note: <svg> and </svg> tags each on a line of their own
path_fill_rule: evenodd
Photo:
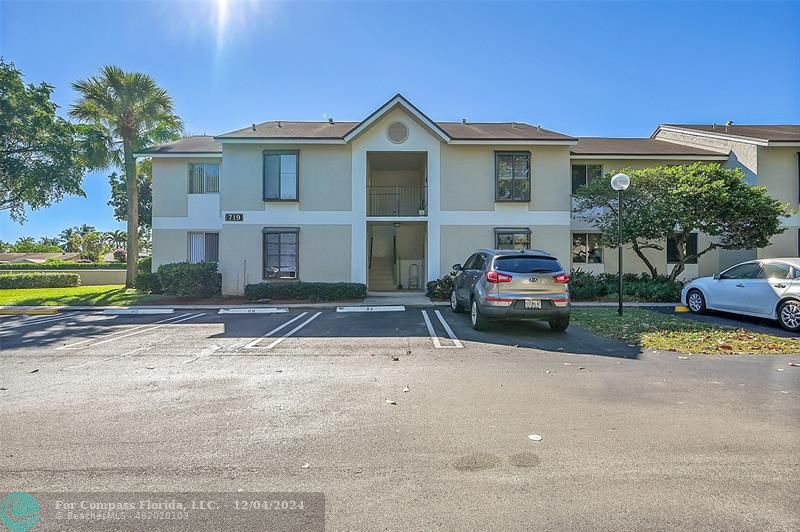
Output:
<svg viewBox="0 0 800 532">
<path fill-rule="evenodd" d="M 623 298 L 643 303 L 674 303 L 681 300 L 683 283 L 670 281 L 659 275 L 655 279 L 648 274 L 626 273 L 622 276 Z M 594 275 L 580 269 L 570 274 L 569 291 L 573 301 L 604 301 L 616 299 L 619 276 L 615 273 Z"/>
</svg>

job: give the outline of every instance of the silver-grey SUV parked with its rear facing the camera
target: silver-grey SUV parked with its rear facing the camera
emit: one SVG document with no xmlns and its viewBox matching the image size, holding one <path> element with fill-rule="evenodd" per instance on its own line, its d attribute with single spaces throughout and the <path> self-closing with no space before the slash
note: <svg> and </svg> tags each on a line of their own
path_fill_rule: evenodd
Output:
<svg viewBox="0 0 800 532">
<path fill-rule="evenodd" d="M 546 251 L 481 249 L 453 270 L 450 308 L 469 308 L 475 330 L 494 319 L 546 320 L 555 331 L 569 326 L 569 274 Z"/>
</svg>

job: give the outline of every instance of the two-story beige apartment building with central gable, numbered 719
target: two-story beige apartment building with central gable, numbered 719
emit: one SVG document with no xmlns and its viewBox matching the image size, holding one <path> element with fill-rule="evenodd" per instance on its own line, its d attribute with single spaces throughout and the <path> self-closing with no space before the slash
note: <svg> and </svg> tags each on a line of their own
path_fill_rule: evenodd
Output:
<svg viewBox="0 0 800 532">
<path fill-rule="evenodd" d="M 154 266 L 217 261 L 226 294 L 280 279 L 422 289 L 480 247 L 537 247 L 573 268 L 615 272 L 616 254 L 572 215 L 571 194 L 624 167 L 741 166 L 797 206 L 800 127 L 784 126 L 780 146 L 766 130 L 706 142 L 692 129 L 701 127 L 579 139 L 516 122 L 434 122 L 397 95 L 360 122 L 272 121 L 188 137 L 138 154 L 153 158 Z M 755 154 L 748 142 L 760 143 Z M 797 254 L 800 223 L 789 223 L 760 255 Z M 686 275 L 748 253 L 704 256 Z M 669 250 L 654 258 L 664 271 Z M 626 270 L 642 269 L 631 253 Z"/>
</svg>

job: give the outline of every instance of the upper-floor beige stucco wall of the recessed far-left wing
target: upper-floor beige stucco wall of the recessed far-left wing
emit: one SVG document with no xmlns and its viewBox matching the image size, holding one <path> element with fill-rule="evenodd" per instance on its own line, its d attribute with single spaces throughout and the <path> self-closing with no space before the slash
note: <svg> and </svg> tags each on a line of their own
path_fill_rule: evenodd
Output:
<svg viewBox="0 0 800 532">
<path fill-rule="evenodd" d="M 189 214 L 189 164 L 221 163 L 220 158 L 153 158 L 153 216 L 183 217 Z M 220 167 L 220 187 L 224 181 Z"/>
</svg>

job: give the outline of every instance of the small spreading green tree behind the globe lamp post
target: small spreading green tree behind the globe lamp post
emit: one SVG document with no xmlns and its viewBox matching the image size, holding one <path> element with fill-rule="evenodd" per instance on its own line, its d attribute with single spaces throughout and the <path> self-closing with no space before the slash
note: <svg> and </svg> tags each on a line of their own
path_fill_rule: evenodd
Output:
<svg viewBox="0 0 800 532">
<path fill-rule="evenodd" d="M 631 185 L 624 192 L 622 243 L 630 244 L 650 274 L 658 274 L 645 251 L 663 251 L 674 238 L 678 262 L 669 277 L 675 280 L 687 261 L 713 249 L 753 249 L 769 245 L 770 238 L 786 229 L 781 219 L 791 214 L 788 205 L 770 197 L 764 187 L 750 186 L 744 173 L 719 164 L 660 166 L 624 169 Z M 601 231 L 601 244 L 619 245 L 617 193 L 611 189 L 612 173 L 578 189 L 574 212 Z M 689 254 L 692 232 L 710 237 L 709 244 Z"/>
</svg>

